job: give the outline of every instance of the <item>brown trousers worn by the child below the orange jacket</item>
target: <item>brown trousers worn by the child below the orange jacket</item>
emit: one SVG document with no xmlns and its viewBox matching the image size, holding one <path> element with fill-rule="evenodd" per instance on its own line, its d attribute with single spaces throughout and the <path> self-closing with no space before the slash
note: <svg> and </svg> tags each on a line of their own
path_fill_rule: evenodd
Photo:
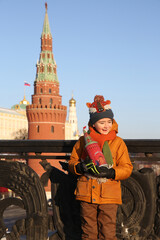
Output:
<svg viewBox="0 0 160 240">
<path fill-rule="evenodd" d="M 116 240 L 117 207 L 81 202 L 82 240 Z"/>
</svg>

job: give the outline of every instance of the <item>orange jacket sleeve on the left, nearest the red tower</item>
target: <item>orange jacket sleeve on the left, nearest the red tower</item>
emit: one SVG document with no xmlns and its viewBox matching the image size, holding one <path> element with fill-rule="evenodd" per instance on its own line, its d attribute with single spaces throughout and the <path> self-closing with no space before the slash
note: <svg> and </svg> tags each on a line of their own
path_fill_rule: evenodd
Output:
<svg viewBox="0 0 160 240">
<path fill-rule="evenodd" d="M 73 147 L 70 160 L 68 162 L 69 171 L 73 174 L 81 175 L 76 171 L 76 165 L 80 162 L 82 152 L 84 149 L 84 138 L 80 137 L 80 139 L 76 142 Z"/>
</svg>

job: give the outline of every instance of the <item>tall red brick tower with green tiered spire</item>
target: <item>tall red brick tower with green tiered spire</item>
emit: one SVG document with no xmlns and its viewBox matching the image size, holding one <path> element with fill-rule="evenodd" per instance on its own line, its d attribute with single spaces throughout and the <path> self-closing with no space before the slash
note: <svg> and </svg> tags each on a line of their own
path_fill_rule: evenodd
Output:
<svg viewBox="0 0 160 240">
<path fill-rule="evenodd" d="M 57 65 L 52 52 L 47 3 L 41 35 L 41 53 L 37 62 L 32 104 L 27 106 L 29 139 L 65 139 L 67 107 L 59 95 Z"/>
</svg>

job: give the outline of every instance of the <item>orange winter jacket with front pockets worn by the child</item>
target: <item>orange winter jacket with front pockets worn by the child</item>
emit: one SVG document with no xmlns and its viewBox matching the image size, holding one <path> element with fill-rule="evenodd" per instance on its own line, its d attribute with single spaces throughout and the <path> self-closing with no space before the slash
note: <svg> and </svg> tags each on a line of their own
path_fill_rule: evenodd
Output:
<svg viewBox="0 0 160 240">
<path fill-rule="evenodd" d="M 112 129 L 118 132 L 118 125 L 115 121 L 113 121 Z M 85 146 L 84 137 L 80 137 L 74 145 L 69 160 L 69 170 L 79 175 L 75 190 L 77 200 L 97 204 L 122 204 L 120 180 L 127 179 L 131 175 L 133 166 L 127 147 L 120 137 L 116 136 L 113 140 L 109 140 L 108 144 L 112 153 L 115 179 L 107 179 L 102 183 L 98 183 L 95 178 L 89 178 L 76 172 L 75 166 L 80 162 Z"/>
</svg>

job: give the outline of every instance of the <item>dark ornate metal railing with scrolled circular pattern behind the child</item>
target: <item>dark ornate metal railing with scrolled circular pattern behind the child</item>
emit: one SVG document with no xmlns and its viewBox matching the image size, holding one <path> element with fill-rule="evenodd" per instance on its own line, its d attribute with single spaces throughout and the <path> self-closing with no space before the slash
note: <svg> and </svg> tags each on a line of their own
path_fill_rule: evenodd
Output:
<svg viewBox="0 0 160 240">
<path fill-rule="evenodd" d="M 160 140 L 125 142 L 135 169 L 136 162 L 156 162 L 159 165 Z M 76 177 L 51 167 L 46 161 L 68 160 L 74 144 L 75 141 L 68 140 L 0 141 L 0 186 L 11 189 L 18 196 L 0 200 L 0 238 L 18 240 L 24 235 L 27 240 L 80 240 L 79 204 L 73 194 Z M 64 155 L 58 156 L 59 153 Z M 36 158 L 42 160 L 46 176 L 51 180 L 53 216 L 48 214 L 43 181 L 26 164 L 12 161 L 34 161 Z M 64 167 L 67 169 L 67 163 Z M 117 215 L 118 239 L 159 239 L 160 176 L 150 168 L 135 170 L 128 180 L 122 181 L 122 195 L 123 204 Z M 25 209 L 26 216 L 17 220 L 7 232 L 3 213 L 10 205 Z"/>
</svg>

